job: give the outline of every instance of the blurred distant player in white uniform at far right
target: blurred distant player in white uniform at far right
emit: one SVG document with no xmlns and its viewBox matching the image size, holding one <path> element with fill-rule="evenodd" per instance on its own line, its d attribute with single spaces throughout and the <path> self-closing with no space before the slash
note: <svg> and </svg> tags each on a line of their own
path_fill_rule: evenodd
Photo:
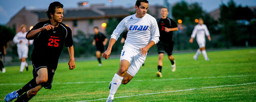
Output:
<svg viewBox="0 0 256 102">
<path fill-rule="evenodd" d="M 199 49 L 196 51 L 195 55 L 193 56 L 193 58 L 195 60 L 198 59 L 198 56 L 201 54 L 203 54 L 204 56 L 204 60 L 209 60 L 207 53 L 205 51 L 205 36 L 206 35 L 208 37 L 208 40 L 211 41 L 211 37 L 210 37 L 210 33 L 207 29 L 207 26 L 205 24 L 203 24 L 204 21 L 202 18 L 199 18 L 198 24 L 195 26 L 191 38 L 189 39 L 190 43 L 193 43 L 193 39 L 196 36 L 196 41 L 199 45 Z"/>
</svg>

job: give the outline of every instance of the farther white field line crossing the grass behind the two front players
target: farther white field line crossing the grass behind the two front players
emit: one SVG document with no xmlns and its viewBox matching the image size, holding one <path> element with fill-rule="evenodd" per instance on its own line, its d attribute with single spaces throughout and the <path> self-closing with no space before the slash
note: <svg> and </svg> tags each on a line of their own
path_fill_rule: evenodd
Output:
<svg viewBox="0 0 256 102">
<path fill-rule="evenodd" d="M 241 76 L 211 76 L 211 77 L 198 77 L 198 78 L 177 78 L 177 79 L 147 79 L 147 80 L 133 80 L 136 82 L 144 82 L 144 81 L 166 81 L 166 80 L 186 80 L 186 79 L 208 79 L 208 78 L 231 78 L 231 77 L 247 77 L 247 76 L 256 76 L 256 75 L 241 75 Z M 97 81 L 97 82 L 53 82 L 52 84 L 83 84 L 83 83 L 108 83 L 110 81 Z M 4 85 L 25 85 L 27 83 L 7 83 L 0 84 L 0 86 Z"/>
</svg>

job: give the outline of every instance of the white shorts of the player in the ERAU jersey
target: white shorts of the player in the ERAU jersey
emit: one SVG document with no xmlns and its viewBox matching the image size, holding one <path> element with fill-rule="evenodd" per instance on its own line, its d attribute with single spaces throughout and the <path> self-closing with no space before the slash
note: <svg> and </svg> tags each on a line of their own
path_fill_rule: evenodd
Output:
<svg viewBox="0 0 256 102">
<path fill-rule="evenodd" d="M 141 50 L 129 47 L 127 45 L 124 45 L 123 50 L 121 51 L 120 61 L 129 61 L 130 66 L 126 73 L 130 74 L 133 77 L 138 73 L 140 67 L 146 60 L 146 56 L 140 56 L 140 51 Z"/>
</svg>

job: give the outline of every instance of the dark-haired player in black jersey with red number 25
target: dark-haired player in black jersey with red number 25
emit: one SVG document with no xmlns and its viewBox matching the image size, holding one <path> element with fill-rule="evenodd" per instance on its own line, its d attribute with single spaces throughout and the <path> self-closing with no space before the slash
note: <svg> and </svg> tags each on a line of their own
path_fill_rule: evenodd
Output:
<svg viewBox="0 0 256 102">
<path fill-rule="evenodd" d="M 5 101 L 28 102 L 42 88 L 51 89 L 53 76 L 58 65 L 63 45 L 68 47 L 70 60 L 69 69 L 75 68 L 74 48 L 71 29 L 61 23 L 63 5 L 52 2 L 46 12 L 49 20 L 37 23 L 26 38 L 34 39 L 34 49 L 31 55 L 33 64 L 33 79 L 21 89 L 5 96 Z M 23 94 L 26 92 L 25 94 Z"/>
</svg>

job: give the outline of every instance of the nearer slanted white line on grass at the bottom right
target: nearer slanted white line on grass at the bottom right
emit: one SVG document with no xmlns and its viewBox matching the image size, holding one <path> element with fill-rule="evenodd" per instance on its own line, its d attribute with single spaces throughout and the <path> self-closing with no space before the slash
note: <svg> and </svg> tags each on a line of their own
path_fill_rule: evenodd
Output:
<svg viewBox="0 0 256 102">
<path fill-rule="evenodd" d="M 199 90 L 199 89 L 207 89 L 207 88 L 220 88 L 220 87 L 228 87 L 228 86 L 238 86 L 238 85 L 250 85 L 256 84 L 256 82 L 250 82 L 245 84 L 236 84 L 236 85 L 221 85 L 221 86 L 211 86 L 211 87 L 204 87 L 204 88 L 190 88 L 186 90 L 177 90 L 177 91 L 165 91 L 165 92 L 156 92 L 156 93 L 148 93 L 148 94 L 138 94 L 138 95 L 131 95 L 131 96 L 120 96 L 115 98 L 124 98 L 124 97 L 134 97 L 134 96 L 144 96 L 144 95 L 151 95 L 151 94 L 162 94 L 162 93 L 171 93 L 171 92 L 181 92 L 181 91 L 192 91 L 192 90 Z M 107 98 L 101 98 L 96 100 L 106 100 Z M 82 100 L 82 101 L 75 101 L 75 102 L 88 102 L 88 101 L 96 101 L 96 100 Z"/>
</svg>

